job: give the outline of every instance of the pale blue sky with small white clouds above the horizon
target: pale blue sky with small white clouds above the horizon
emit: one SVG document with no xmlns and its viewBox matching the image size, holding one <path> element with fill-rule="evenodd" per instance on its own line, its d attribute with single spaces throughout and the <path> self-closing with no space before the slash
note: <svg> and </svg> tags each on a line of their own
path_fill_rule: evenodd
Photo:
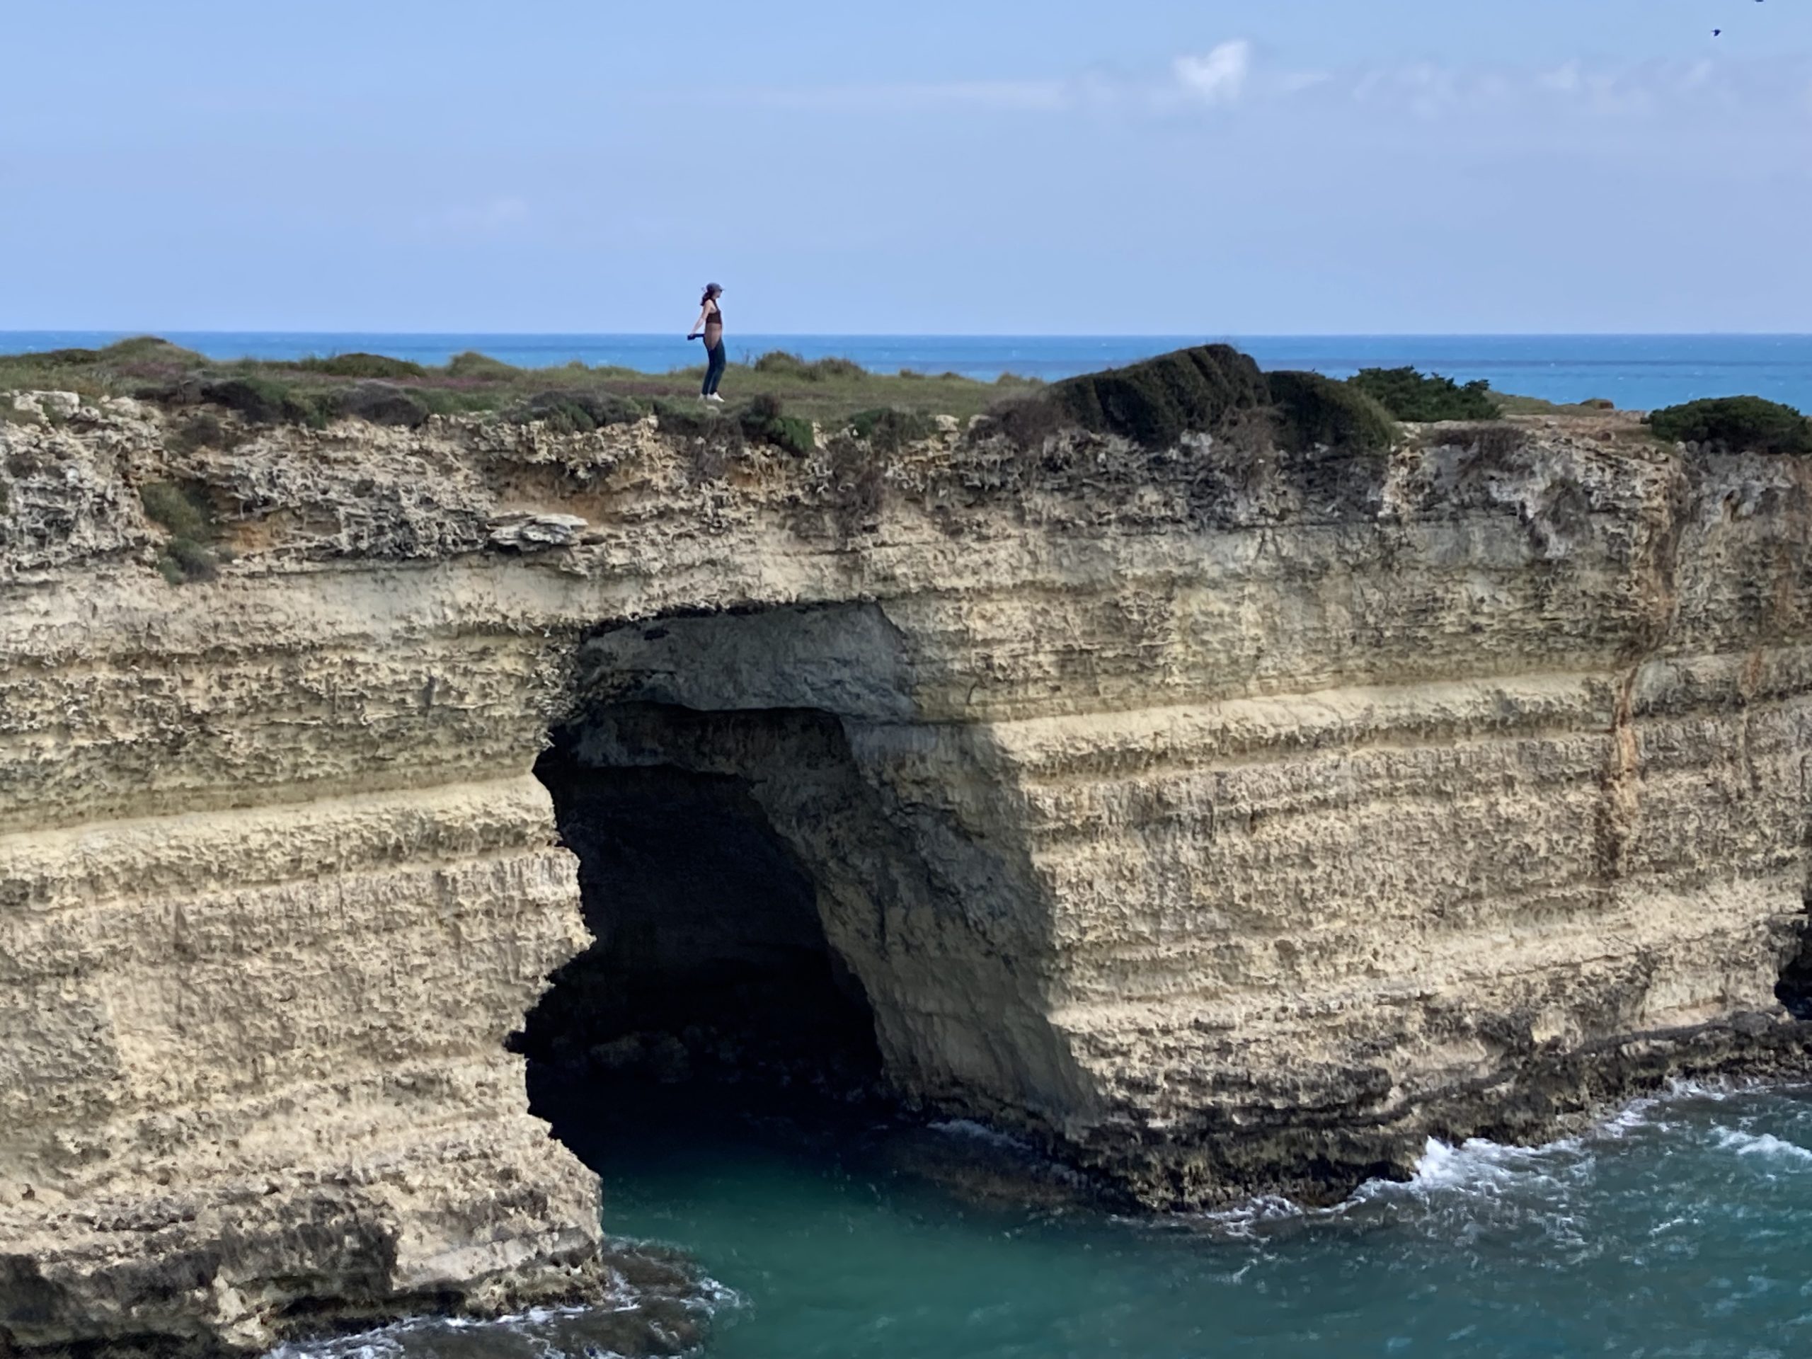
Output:
<svg viewBox="0 0 1812 1359">
<path fill-rule="evenodd" d="M 1721 27 L 1721 36 L 1712 29 Z M 0 332 L 1812 332 L 1812 0 L 0 0 Z"/>
</svg>

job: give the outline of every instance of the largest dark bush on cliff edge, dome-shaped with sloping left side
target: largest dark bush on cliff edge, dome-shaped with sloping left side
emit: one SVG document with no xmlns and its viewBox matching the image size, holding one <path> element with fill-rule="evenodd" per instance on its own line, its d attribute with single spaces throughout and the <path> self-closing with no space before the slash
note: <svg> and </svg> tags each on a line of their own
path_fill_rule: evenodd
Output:
<svg viewBox="0 0 1812 1359">
<path fill-rule="evenodd" d="M 1171 448 L 1185 433 L 1207 433 L 1232 411 L 1259 408 L 1267 399 L 1265 375 L 1248 355 L 1227 344 L 1201 344 L 1127 368 L 1067 377 L 998 406 L 995 419 L 1027 448 L 1065 424 L 1120 435 L 1143 448 Z"/>
</svg>

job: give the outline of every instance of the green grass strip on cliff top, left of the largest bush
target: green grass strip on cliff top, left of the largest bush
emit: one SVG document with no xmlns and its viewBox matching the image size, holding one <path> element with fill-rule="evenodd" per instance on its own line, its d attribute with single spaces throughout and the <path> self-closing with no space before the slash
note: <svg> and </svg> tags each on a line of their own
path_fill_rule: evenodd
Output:
<svg viewBox="0 0 1812 1359">
<path fill-rule="evenodd" d="M 703 377 L 701 364 L 669 373 L 582 362 L 516 368 L 482 353 L 460 353 L 440 366 L 377 353 L 219 362 L 149 335 L 105 350 L 0 355 L 0 391 L 53 388 L 85 397 L 217 404 L 255 422 L 303 424 L 335 415 L 411 424 L 429 413 L 462 411 L 545 419 L 565 410 L 565 419 L 585 428 L 587 420 L 609 424 L 667 404 L 696 406 Z M 779 400 L 790 419 L 837 426 L 875 410 L 968 419 L 1004 395 L 1036 386 L 1035 379 L 1011 375 L 980 382 L 957 373 L 870 373 L 848 359 L 806 362 L 776 352 L 730 364 L 723 395 L 728 402 Z"/>
</svg>

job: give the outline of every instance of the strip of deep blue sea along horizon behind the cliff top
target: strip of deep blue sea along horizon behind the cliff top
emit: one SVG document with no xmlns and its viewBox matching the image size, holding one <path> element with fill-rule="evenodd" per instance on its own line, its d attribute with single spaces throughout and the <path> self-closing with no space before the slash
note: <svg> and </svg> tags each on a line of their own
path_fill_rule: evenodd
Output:
<svg viewBox="0 0 1812 1359">
<path fill-rule="evenodd" d="M 120 332 L 0 332 L 0 353 L 96 348 Z M 478 350 L 525 368 L 573 361 L 641 371 L 699 362 L 680 335 L 420 335 L 172 332 L 167 339 L 212 359 L 303 359 L 350 350 L 440 364 Z M 846 357 L 875 371 L 1000 373 L 1046 381 L 1145 359 L 1181 344 L 1225 341 L 1265 368 L 1312 368 L 1350 377 L 1361 368 L 1413 366 L 1462 382 L 1547 400 L 1605 397 L 1654 410 L 1698 397 L 1756 395 L 1812 411 L 1812 335 L 728 335 L 730 359 L 768 350 L 806 359 Z"/>
</svg>

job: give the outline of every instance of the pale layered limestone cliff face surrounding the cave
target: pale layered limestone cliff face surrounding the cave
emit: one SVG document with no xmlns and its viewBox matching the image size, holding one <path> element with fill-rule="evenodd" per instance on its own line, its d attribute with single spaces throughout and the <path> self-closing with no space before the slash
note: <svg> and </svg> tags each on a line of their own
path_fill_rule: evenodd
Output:
<svg viewBox="0 0 1812 1359">
<path fill-rule="evenodd" d="M 0 422 L 0 1352 L 609 1287 L 507 1046 L 589 942 L 554 730 L 734 777 L 892 1085 L 1152 1205 L 1339 1192 L 1803 1044 L 1792 460 L 1609 422 L 1366 458 L 439 419 L 228 451 L 27 404 L 58 417 Z M 210 578 L 159 574 L 149 486 L 212 516 Z"/>
</svg>

